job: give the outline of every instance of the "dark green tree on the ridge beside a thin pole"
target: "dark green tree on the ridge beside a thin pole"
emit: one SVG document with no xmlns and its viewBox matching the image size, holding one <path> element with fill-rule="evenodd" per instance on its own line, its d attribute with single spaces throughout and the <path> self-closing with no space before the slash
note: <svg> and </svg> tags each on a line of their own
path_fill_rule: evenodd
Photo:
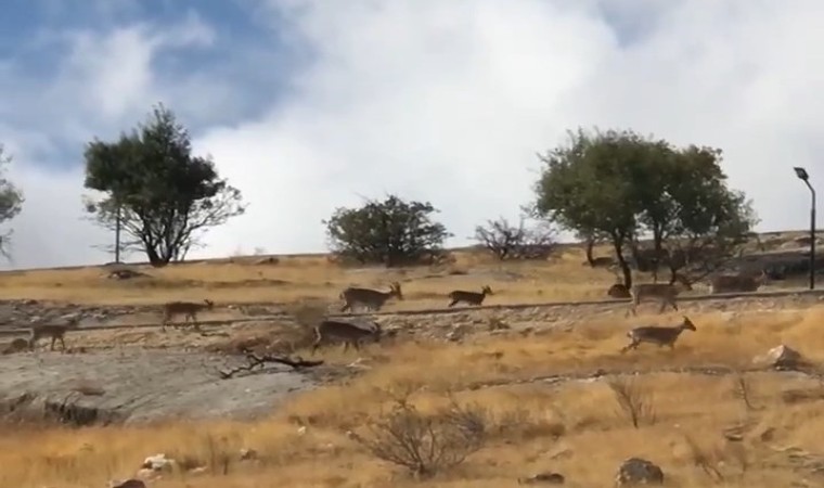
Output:
<svg viewBox="0 0 824 488">
<path fill-rule="evenodd" d="M 163 105 L 116 142 L 90 142 L 83 156 L 86 188 L 104 193 L 87 209 L 100 226 L 121 227 L 126 247 L 138 246 L 153 266 L 184 259 L 207 229 L 245 211 L 240 190 L 210 157 L 192 155 L 189 132 Z"/>
</svg>

